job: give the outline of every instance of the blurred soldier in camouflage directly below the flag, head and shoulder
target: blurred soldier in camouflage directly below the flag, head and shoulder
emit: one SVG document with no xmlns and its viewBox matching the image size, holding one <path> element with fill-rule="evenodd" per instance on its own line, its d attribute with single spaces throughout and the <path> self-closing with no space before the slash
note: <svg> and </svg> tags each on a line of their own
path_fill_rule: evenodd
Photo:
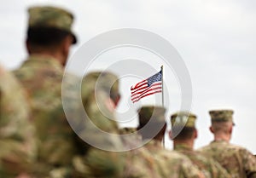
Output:
<svg viewBox="0 0 256 178">
<path fill-rule="evenodd" d="M 137 129 L 143 141 L 148 142 L 145 148 L 154 155 L 155 172 L 160 177 L 204 177 L 188 158 L 178 152 L 166 151 L 161 145 L 166 132 L 165 112 L 161 106 L 143 106 L 138 110 Z"/>
</svg>

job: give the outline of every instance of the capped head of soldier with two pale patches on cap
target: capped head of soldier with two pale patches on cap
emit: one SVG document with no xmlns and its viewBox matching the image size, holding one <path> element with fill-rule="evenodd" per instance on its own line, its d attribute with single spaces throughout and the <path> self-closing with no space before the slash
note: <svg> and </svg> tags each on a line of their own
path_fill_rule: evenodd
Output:
<svg viewBox="0 0 256 178">
<path fill-rule="evenodd" d="M 194 141 L 197 138 L 195 119 L 195 114 L 191 112 L 183 111 L 172 114 L 170 138 L 173 141 Z"/>
</svg>

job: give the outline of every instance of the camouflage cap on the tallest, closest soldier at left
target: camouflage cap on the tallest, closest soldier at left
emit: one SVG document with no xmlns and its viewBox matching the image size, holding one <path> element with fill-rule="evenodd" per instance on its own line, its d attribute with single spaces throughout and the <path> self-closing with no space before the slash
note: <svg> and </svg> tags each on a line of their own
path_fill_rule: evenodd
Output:
<svg viewBox="0 0 256 178">
<path fill-rule="evenodd" d="M 73 24 L 73 14 L 65 9 L 42 6 L 28 9 L 29 27 L 54 27 L 70 32 L 73 36 L 73 43 L 77 43 L 77 38 L 71 30 Z"/>
</svg>

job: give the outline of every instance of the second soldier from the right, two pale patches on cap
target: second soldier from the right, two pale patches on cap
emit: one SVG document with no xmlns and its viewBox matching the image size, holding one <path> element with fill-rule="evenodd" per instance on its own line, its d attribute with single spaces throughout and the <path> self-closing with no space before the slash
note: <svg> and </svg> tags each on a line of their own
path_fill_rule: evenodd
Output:
<svg viewBox="0 0 256 178">
<path fill-rule="evenodd" d="M 193 164 L 197 165 L 206 177 L 228 178 L 230 175 L 218 162 L 204 157 L 200 152 L 193 150 L 197 129 L 195 129 L 196 116 L 191 112 L 177 112 L 171 116 L 174 150 L 186 155 Z"/>
</svg>

